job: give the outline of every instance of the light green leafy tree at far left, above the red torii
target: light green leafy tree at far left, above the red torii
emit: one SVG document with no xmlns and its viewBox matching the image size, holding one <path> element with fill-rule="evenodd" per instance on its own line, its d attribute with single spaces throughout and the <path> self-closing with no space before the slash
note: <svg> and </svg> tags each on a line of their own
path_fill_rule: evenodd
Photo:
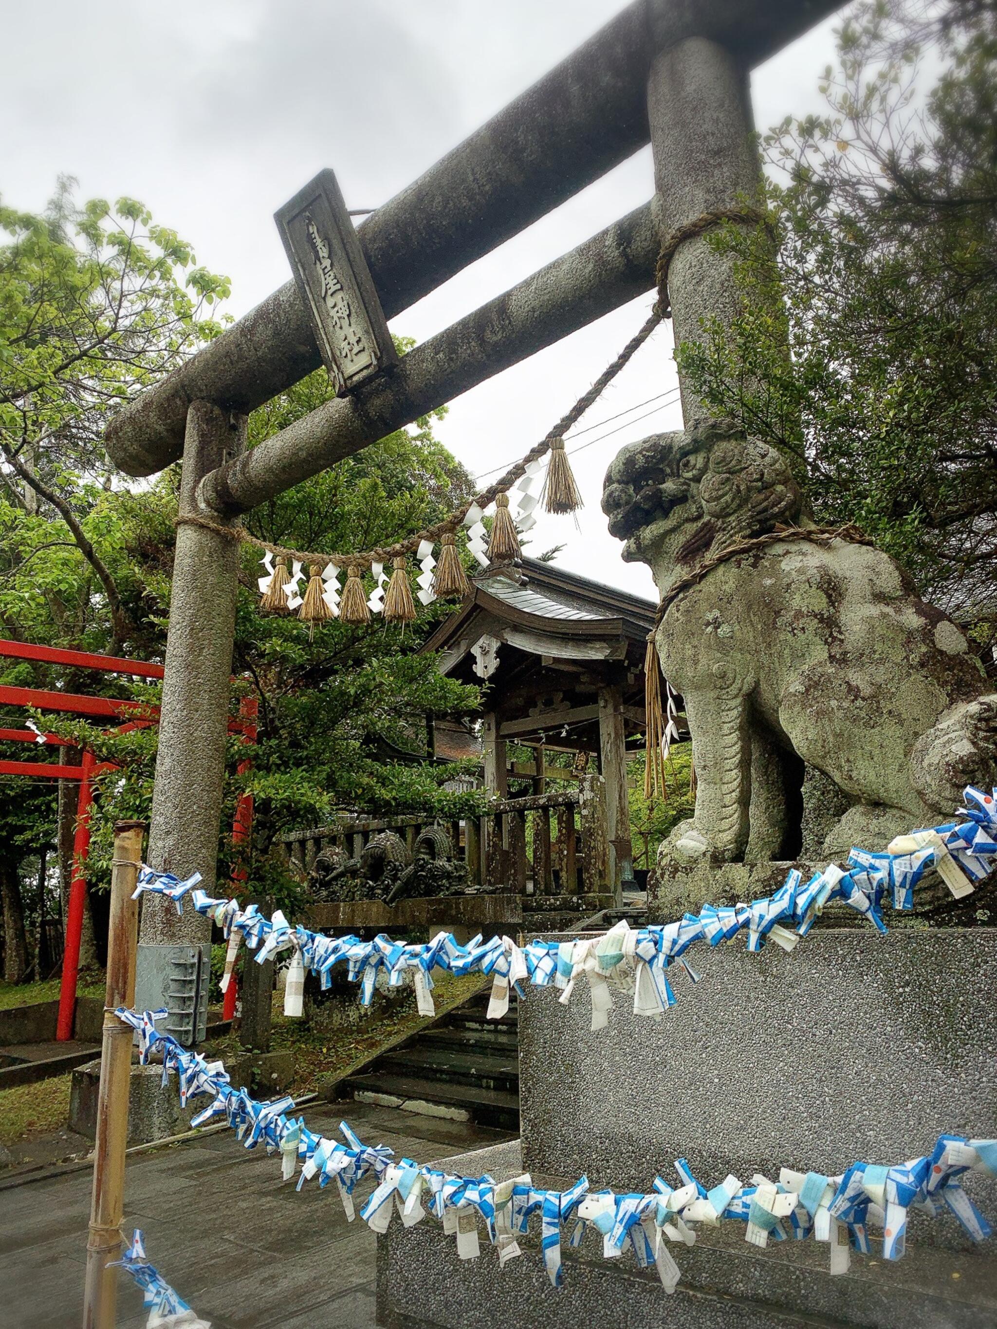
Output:
<svg viewBox="0 0 997 1329">
<path fill-rule="evenodd" d="M 33 562 L 57 634 L 78 641 L 98 614 L 120 650 L 136 643 L 138 618 L 101 526 L 101 494 L 114 484 L 101 444 L 108 412 L 221 331 L 209 315 L 229 283 L 142 203 L 77 206 L 74 183 L 61 178 L 43 215 L 0 205 L 11 237 L 0 247 L 0 532 L 4 571 Z M 53 554 L 69 544 L 82 578 Z"/>
</svg>

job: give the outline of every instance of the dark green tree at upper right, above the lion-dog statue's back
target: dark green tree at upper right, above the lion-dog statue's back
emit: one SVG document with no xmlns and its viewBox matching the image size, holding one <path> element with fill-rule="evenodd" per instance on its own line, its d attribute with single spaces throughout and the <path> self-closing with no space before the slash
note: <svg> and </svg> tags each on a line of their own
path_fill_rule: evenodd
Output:
<svg viewBox="0 0 997 1329">
<path fill-rule="evenodd" d="M 770 231 L 713 239 L 744 312 L 682 368 L 715 413 L 806 456 L 820 521 L 857 522 L 993 641 L 997 7 L 867 0 L 837 56 L 826 114 L 763 138 Z"/>
</svg>

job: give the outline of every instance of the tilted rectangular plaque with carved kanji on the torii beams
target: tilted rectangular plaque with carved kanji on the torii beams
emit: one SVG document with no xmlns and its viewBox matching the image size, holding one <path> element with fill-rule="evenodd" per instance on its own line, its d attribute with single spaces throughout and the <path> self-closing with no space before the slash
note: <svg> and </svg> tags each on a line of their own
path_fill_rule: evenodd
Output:
<svg viewBox="0 0 997 1329">
<path fill-rule="evenodd" d="M 275 221 L 330 379 L 350 392 L 397 354 L 332 171 L 320 171 Z"/>
</svg>

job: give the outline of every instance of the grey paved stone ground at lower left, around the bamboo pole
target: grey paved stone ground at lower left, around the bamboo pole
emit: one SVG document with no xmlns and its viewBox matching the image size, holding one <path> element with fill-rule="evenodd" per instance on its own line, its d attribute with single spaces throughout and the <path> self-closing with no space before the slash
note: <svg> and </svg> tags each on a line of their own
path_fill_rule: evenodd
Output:
<svg viewBox="0 0 997 1329">
<path fill-rule="evenodd" d="M 364 1143 L 420 1163 L 509 1138 L 364 1103 L 304 1110 L 327 1135 L 343 1118 Z M 0 1324 L 77 1329 L 90 1179 L 85 1170 L 0 1191 Z M 133 1155 L 125 1232 L 145 1231 L 152 1263 L 214 1329 L 374 1329 L 374 1233 L 346 1221 L 335 1187 L 295 1184 L 230 1131 Z M 118 1329 L 140 1325 L 141 1294 L 122 1275 Z"/>
</svg>

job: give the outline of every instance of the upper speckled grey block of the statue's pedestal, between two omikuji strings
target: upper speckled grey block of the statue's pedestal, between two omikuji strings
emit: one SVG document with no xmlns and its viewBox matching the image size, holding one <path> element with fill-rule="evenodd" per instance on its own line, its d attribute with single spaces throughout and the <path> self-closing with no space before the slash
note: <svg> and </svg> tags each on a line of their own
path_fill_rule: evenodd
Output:
<svg viewBox="0 0 997 1329">
<path fill-rule="evenodd" d="M 618 995 L 592 1033 L 584 981 L 568 1007 L 552 989 L 521 1002 L 528 1168 L 643 1189 L 679 1156 L 713 1184 L 997 1135 L 997 930 L 816 929 L 791 954 L 740 940 L 687 958 L 702 981 L 673 970 L 661 1023 Z M 996 1213 L 997 1183 L 973 1180 Z"/>
</svg>

